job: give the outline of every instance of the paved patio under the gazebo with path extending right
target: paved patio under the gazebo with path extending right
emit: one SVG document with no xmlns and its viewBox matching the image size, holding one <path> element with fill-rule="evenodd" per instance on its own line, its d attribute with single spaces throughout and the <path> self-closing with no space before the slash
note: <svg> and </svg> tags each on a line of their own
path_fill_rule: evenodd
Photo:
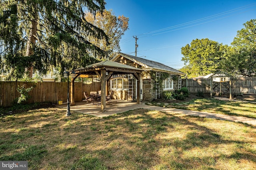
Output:
<svg viewBox="0 0 256 170">
<path fill-rule="evenodd" d="M 60 108 L 66 108 L 66 104 L 57 105 Z M 179 113 L 184 115 L 192 115 L 192 116 L 199 116 L 199 117 L 206 117 L 212 119 L 219 119 L 219 120 L 227 120 L 227 121 L 234 121 L 234 122 L 242 122 L 247 123 L 249 125 L 256 126 L 256 119 L 248 118 L 248 117 L 238 117 L 238 116 L 230 116 L 230 115 L 222 115 L 216 113 L 207 113 L 207 112 L 200 112 L 200 111 L 191 111 L 191 110 L 183 110 L 183 109 L 175 109 L 175 108 L 168 108 L 168 107 L 158 107 L 158 106 L 148 106 L 146 102 L 142 102 L 142 104 L 136 104 L 136 102 L 127 102 L 125 100 L 113 100 L 112 105 L 106 105 L 106 112 L 101 112 L 100 105 L 90 105 L 86 104 L 85 102 L 76 102 L 76 106 L 70 106 L 70 111 L 76 111 L 79 113 L 94 115 L 96 117 L 104 117 L 113 115 L 116 113 L 122 113 L 124 111 L 129 111 L 133 109 L 149 109 L 149 110 L 157 110 L 157 111 L 165 111 L 167 113 Z"/>
</svg>

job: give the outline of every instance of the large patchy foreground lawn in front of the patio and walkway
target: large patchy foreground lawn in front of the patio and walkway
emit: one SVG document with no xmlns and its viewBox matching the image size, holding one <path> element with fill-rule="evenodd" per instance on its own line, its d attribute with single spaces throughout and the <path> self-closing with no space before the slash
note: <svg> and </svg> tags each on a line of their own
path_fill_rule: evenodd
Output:
<svg viewBox="0 0 256 170">
<path fill-rule="evenodd" d="M 28 160 L 33 170 L 256 169 L 249 125 L 146 109 L 65 114 L 48 108 L 2 117 L 0 160 Z"/>
</svg>

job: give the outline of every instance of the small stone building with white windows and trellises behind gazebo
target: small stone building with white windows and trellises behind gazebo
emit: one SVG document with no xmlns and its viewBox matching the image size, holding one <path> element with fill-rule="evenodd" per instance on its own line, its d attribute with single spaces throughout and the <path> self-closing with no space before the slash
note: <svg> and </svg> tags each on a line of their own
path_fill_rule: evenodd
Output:
<svg viewBox="0 0 256 170">
<path fill-rule="evenodd" d="M 183 72 L 141 57 L 117 53 L 111 61 L 130 65 L 144 70 L 140 84 L 141 100 L 151 101 L 161 98 L 164 91 L 180 89 Z M 137 81 L 132 75 L 123 74 L 112 76 L 108 82 L 108 90 L 114 90 L 114 98 L 135 100 Z"/>
</svg>

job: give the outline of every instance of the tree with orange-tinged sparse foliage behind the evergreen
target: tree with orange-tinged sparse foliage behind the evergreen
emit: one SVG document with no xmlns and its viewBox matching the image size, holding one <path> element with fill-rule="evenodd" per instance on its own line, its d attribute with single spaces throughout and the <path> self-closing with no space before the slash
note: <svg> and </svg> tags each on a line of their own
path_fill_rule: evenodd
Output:
<svg viewBox="0 0 256 170">
<path fill-rule="evenodd" d="M 124 32 L 128 29 L 129 18 L 122 16 L 114 16 L 112 10 L 104 10 L 103 14 L 98 12 L 96 16 L 90 12 L 86 12 L 86 21 L 102 29 L 109 37 L 109 45 L 104 42 L 105 40 L 98 40 L 95 37 L 88 36 L 88 41 L 94 45 L 100 47 L 104 51 L 109 52 L 109 57 L 112 57 L 114 53 L 120 50 L 120 39 L 124 35 Z"/>
</svg>

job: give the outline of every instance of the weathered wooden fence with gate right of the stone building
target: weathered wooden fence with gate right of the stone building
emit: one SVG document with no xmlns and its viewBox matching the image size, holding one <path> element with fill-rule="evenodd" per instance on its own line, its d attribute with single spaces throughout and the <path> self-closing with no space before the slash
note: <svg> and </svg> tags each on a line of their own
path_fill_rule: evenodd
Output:
<svg viewBox="0 0 256 170">
<path fill-rule="evenodd" d="M 200 92 L 203 92 L 204 94 L 210 94 L 210 83 L 211 83 L 210 78 L 182 79 L 182 87 L 187 87 L 190 93 L 197 93 L 198 91 L 200 91 Z M 224 84 L 226 82 L 213 82 L 213 83 Z M 215 86 L 218 86 L 218 85 L 215 85 Z M 228 88 L 230 87 L 228 86 Z M 231 91 L 232 91 L 232 96 L 240 95 L 240 94 L 256 94 L 256 77 L 232 77 Z M 215 95 L 216 94 L 218 96 L 218 92 L 215 91 Z"/>
</svg>

